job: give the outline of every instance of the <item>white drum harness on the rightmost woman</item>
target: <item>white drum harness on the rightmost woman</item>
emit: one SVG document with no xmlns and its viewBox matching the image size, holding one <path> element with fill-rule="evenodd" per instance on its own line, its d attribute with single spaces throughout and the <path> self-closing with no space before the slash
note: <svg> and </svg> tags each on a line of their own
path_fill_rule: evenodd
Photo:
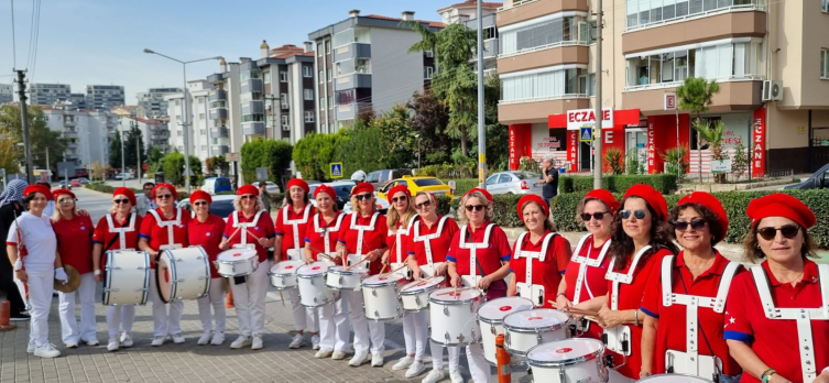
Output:
<svg viewBox="0 0 829 383">
<path fill-rule="evenodd" d="M 815 342 L 811 333 L 811 320 L 829 320 L 829 264 L 818 265 L 818 278 L 820 280 L 820 294 L 822 296 L 819 308 L 777 308 L 772 299 L 768 288 L 768 276 L 763 266 L 750 267 L 757 287 L 760 303 L 763 313 L 772 320 L 796 320 L 797 339 L 800 349 L 800 370 L 803 381 L 811 382 L 818 375 L 818 366 L 815 362 Z"/>
</svg>

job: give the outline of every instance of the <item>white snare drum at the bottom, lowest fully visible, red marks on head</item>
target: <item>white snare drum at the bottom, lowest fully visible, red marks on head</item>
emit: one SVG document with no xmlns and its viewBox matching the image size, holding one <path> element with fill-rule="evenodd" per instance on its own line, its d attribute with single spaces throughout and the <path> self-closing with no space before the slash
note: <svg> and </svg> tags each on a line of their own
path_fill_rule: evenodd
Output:
<svg viewBox="0 0 829 383">
<path fill-rule="evenodd" d="M 526 364 L 534 382 L 607 382 L 603 353 L 600 340 L 566 339 L 533 347 L 526 353 Z"/>
</svg>

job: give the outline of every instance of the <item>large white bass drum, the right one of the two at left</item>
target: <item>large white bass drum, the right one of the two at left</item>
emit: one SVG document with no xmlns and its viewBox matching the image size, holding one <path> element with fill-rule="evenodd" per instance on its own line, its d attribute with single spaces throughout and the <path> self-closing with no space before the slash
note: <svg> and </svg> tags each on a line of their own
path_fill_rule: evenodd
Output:
<svg viewBox="0 0 829 383">
<path fill-rule="evenodd" d="M 198 299 L 210 292 L 210 261 L 201 247 L 163 250 L 155 283 L 164 303 Z"/>
</svg>

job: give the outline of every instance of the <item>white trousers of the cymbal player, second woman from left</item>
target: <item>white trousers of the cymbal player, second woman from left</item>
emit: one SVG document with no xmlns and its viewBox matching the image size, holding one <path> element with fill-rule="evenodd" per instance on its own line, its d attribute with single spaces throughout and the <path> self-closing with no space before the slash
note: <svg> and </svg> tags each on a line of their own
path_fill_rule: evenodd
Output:
<svg viewBox="0 0 829 383">
<path fill-rule="evenodd" d="M 64 343 L 95 340 L 95 276 L 80 275 L 80 286 L 73 293 L 57 293 L 61 305 L 61 338 Z M 75 294 L 80 296 L 80 329 L 75 318 Z"/>
</svg>

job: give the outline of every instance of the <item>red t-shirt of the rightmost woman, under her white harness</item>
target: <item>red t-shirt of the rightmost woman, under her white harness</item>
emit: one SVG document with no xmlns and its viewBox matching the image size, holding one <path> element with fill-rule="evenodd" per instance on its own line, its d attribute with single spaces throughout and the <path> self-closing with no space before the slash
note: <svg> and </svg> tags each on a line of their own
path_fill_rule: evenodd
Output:
<svg viewBox="0 0 829 383">
<path fill-rule="evenodd" d="M 820 280 L 817 264 L 806 260 L 804 274 L 795 286 L 781 283 L 768 270 L 768 261 L 763 262 L 768 278 L 772 302 L 777 308 L 819 308 L 821 299 Z M 726 302 L 724 338 L 745 342 L 760 360 L 775 369 L 777 374 L 794 383 L 803 381 L 800 352 L 797 338 L 797 322 L 785 319 L 767 319 L 763 315 L 760 294 L 751 273 L 734 277 Z M 811 320 L 817 373 L 829 366 L 829 320 Z M 740 382 L 755 383 L 757 379 L 744 373 Z"/>
</svg>

